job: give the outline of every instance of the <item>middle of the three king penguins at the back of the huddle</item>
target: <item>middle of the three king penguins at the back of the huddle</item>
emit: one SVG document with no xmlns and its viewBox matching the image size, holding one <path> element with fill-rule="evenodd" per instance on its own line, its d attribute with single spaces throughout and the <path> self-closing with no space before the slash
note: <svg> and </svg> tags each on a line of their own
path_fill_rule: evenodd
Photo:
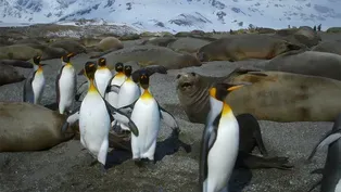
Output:
<svg viewBox="0 0 341 192">
<path fill-rule="evenodd" d="M 124 74 L 123 69 L 124 69 L 123 63 L 119 62 L 116 63 L 115 65 L 116 74 L 110 79 L 110 84 L 108 85 L 108 87 L 122 86 L 122 84 L 126 80 L 126 75 Z M 117 107 L 118 94 L 116 92 L 110 91 L 105 93 L 105 99 L 111 105 Z"/>
</svg>

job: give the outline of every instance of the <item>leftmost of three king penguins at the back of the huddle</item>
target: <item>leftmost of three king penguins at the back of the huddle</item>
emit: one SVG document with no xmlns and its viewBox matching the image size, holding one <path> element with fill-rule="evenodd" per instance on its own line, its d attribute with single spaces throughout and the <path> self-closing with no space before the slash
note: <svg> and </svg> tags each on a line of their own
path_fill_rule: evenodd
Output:
<svg viewBox="0 0 341 192">
<path fill-rule="evenodd" d="M 113 74 L 106 67 L 106 60 L 105 57 L 100 57 L 98 60 L 98 68 L 94 73 L 94 82 L 96 87 L 99 90 L 100 94 L 104 98 L 104 93 L 106 90 L 106 86 L 109 80 L 112 78 Z"/>
</svg>

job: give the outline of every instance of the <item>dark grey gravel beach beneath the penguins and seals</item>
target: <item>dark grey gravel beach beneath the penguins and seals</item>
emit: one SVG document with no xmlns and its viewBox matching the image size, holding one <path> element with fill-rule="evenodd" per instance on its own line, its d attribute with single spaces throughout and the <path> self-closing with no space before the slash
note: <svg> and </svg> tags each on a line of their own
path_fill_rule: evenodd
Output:
<svg viewBox="0 0 341 192">
<path fill-rule="evenodd" d="M 341 35 L 321 35 L 324 39 L 341 39 Z M 123 41 L 125 47 L 135 46 L 140 40 Z M 81 53 L 72 60 L 77 72 L 89 61 L 89 54 Z M 169 69 L 167 74 L 151 76 L 151 92 L 159 103 L 171 112 L 181 129 L 180 139 L 191 145 L 187 153 L 177 148 L 172 139 L 171 128 L 162 124 L 156 146 L 156 164 L 139 168 L 129 153 L 110 151 L 108 174 L 100 171 L 99 165 L 90 166 L 92 157 L 81 146 L 79 140 L 70 140 L 50 150 L 39 152 L 0 153 L 1 192 L 53 192 L 53 191 L 114 191 L 114 192 L 197 192 L 199 180 L 200 142 L 204 125 L 190 123 L 182 111 L 176 93 L 176 76 L 180 72 L 195 72 L 205 76 L 224 76 L 239 66 L 254 66 L 260 60 L 240 62 L 206 62 L 202 66 Z M 46 65 L 46 89 L 43 105 L 55 102 L 54 80 L 61 66 L 60 59 L 43 61 Z M 136 63 L 130 62 L 134 69 Z M 17 71 L 28 76 L 30 68 Z M 78 76 L 80 85 L 86 78 Z M 0 87 L 0 101 L 22 101 L 22 82 Z M 321 98 L 325 100 L 326 98 Z M 77 105 L 80 103 L 78 102 Z M 247 104 L 247 103 L 245 103 Z M 279 169 L 235 169 L 230 180 L 231 192 L 303 192 L 319 178 L 311 175 L 325 164 L 327 148 L 318 151 L 313 162 L 307 164 L 314 145 L 331 129 L 330 121 L 275 123 L 260 120 L 265 148 L 269 156 L 288 156 L 293 164 L 291 170 Z M 1 143 L 1 141 L 0 141 Z M 255 150 L 254 154 L 258 154 Z M 318 188 L 315 189 L 315 192 Z"/>
</svg>

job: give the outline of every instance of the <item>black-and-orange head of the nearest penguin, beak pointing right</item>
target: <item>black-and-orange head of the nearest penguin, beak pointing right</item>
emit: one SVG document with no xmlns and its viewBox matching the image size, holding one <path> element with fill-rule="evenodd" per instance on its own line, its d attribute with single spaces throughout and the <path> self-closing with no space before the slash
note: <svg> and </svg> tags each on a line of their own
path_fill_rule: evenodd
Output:
<svg viewBox="0 0 341 192">
<path fill-rule="evenodd" d="M 232 84 L 215 84 L 210 89 L 210 95 L 219 100 L 224 101 L 228 93 L 243 87 L 244 85 L 232 85 Z"/>
</svg>

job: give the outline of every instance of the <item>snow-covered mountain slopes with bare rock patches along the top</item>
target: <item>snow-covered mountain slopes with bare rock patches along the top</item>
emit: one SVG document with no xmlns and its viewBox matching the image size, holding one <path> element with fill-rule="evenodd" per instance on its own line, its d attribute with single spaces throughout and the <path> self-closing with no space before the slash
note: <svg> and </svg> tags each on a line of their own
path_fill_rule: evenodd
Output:
<svg viewBox="0 0 341 192">
<path fill-rule="evenodd" d="M 0 0 L 3 25 L 102 18 L 141 30 L 341 25 L 341 0 Z"/>
</svg>

